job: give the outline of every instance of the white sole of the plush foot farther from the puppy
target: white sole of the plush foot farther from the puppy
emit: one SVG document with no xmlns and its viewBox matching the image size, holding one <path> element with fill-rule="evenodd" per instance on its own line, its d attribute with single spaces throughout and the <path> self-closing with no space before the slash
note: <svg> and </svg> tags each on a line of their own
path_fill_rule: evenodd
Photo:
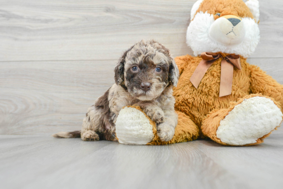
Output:
<svg viewBox="0 0 283 189">
<path fill-rule="evenodd" d="M 220 121 L 217 138 L 229 145 L 254 144 L 282 121 L 282 112 L 274 102 L 256 96 L 244 100 Z"/>
</svg>

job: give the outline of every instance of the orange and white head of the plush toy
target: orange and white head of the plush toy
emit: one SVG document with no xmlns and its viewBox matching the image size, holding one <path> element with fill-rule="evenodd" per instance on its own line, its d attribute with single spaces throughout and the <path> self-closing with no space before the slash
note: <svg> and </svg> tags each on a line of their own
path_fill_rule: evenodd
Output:
<svg viewBox="0 0 283 189">
<path fill-rule="evenodd" d="M 187 44 L 203 52 L 248 57 L 259 42 L 257 0 L 198 0 L 191 9 Z"/>
</svg>

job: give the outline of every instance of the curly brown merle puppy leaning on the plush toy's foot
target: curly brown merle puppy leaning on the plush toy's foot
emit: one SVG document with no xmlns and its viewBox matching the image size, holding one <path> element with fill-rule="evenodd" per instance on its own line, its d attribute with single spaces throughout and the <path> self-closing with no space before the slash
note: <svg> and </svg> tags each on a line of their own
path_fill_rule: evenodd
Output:
<svg viewBox="0 0 283 189">
<path fill-rule="evenodd" d="M 159 138 L 170 141 L 178 123 L 172 96 L 178 77 L 179 70 L 170 51 L 154 40 L 142 40 L 120 57 L 115 68 L 115 84 L 88 109 L 81 131 L 53 136 L 117 141 L 115 122 L 120 110 L 137 105 L 156 122 Z"/>
</svg>

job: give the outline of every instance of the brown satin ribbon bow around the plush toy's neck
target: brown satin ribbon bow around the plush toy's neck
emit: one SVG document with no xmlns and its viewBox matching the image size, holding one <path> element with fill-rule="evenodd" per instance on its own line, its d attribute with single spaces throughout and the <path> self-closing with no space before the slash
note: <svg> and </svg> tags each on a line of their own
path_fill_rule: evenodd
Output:
<svg viewBox="0 0 283 189">
<path fill-rule="evenodd" d="M 198 64 L 196 70 L 190 78 L 194 87 L 198 88 L 200 81 L 213 62 L 221 57 L 217 53 L 202 53 L 202 61 Z M 234 66 L 241 70 L 241 61 L 239 55 L 228 55 L 221 61 L 220 91 L 219 97 L 230 95 L 232 92 L 233 70 Z"/>
</svg>

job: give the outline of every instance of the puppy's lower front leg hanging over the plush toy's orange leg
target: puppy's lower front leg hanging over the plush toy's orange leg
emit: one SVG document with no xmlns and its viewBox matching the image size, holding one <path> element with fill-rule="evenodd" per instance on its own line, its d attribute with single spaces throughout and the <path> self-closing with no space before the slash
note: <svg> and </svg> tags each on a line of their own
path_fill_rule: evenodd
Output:
<svg viewBox="0 0 283 189">
<path fill-rule="evenodd" d="M 175 127 L 178 123 L 178 115 L 175 111 L 165 111 L 163 122 L 157 125 L 157 135 L 161 141 L 170 141 L 175 134 Z"/>
</svg>

